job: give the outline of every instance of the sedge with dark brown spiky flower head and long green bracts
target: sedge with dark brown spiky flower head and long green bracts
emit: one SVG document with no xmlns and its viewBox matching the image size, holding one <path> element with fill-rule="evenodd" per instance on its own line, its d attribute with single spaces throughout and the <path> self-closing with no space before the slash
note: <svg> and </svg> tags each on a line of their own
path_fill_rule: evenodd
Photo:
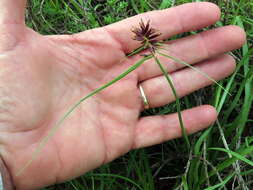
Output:
<svg viewBox="0 0 253 190">
<path fill-rule="evenodd" d="M 16 176 L 19 176 L 22 174 L 22 172 L 30 166 L 30 164 L 39 156 L 41 153 L 43 147 L 46 145 L 46 143 L 50 140 L 50 138 L 57 132 L 57 130 L 61 127 L 62 123 L 75 111 L 75 109 L 85 100 L 88 98 L 96 95 L 97 93 L 101 92 L 102 90 L 106 89 L 107 87 L 113 85 L 117 81 L 121 80 L 125 76 L 127 76 L 129 73 L 133 72 L 135 69 L 139 68 L 142 64 L 144 64 L 146 61 L 153 59 L 156 63 L 157 66 L 160 68 L 161 72 L 163 73 L 164 77 L 166 78 L 169 87 L 171 88 L 173 95 L 176 100 L 176 107 L 177 107 L 177 114 L 178 114 L 178 119 L 182 131 L 182 136 L 187 144 L 188 150 L 190 152 L 191 145 L 189 138 L 187 136 L 187 132 L 184 127 L 182 115 L 181 115 L 181 108 L 180 108 L 180 100 L 179 96 L 177 94 L 176 88 L 173 84 L 173 81 L 165 69 L 164 65 L 161 63 L 159 57 L 165 57 L 168 59 L 171 59 L 179 64 L 183 64 L 187 67 L 190 67 L 194 71 L 202 74 L 215 84 L 217 84 L 221 89 L 223 89 L 226 93 L 227 90 L 223 88 L 219 83 L 217 83 L 214 79 L 212 79 L 210 76 L 208 76 L 206 73 L 200 71 L 199 69 L 191 66 L 190 64 L 184 62 L 183 60 L 169 55 L 169 51 L 166 49 L 166 46 L 168 46 L 164 41 L 159 41 L 157 38 L 161 35 L 161 33 L 157 30 L 151 27 L 150 25 L 150 20 L 148 20 L 146 23 L 144 23 L 143 20 L 140 21 L 139 26 L 133 28 L 132 32 L 134 33 L 133 40 L 136 40 L 140 42 L 140 47 L 131 52 L 130 54 L 127 55 L 127 57 L 131 57 L 133 55 L 140 55 L 140 59 L 131 67 L 129 67 L 126 71 L 115 77 L 113 80 L 109 81 L 108 83 L 104 84 L 103 86 L 95 89 L 94 91 L 90 92 L 88 95 L 84 96 L 81 98 L 79 101 L 77 101 L 74 105 L 72 105 L 68 111 L 65 112 L 65 114 L 58 120 L 58 122 L 52 127 L 48 134 L 40 141 L 38 147 L 36 150 L 33 152 L 32 157 L 30 160 L 27 161 L 27 163 L 16 173 Z M 145 51 L 145 54 L 142 54 L 142 52 Z M 126 57 L 126 58 L 127 58 Z M 124 61 L 124 60 L 122 60 Z"/>
</svg>

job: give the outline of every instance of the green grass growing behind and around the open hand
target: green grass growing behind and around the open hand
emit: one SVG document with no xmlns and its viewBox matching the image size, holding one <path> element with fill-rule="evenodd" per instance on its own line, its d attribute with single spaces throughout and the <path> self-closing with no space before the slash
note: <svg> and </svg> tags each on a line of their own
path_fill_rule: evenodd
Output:
<svg viewBox="0 0 253 190">
<path fill-rule="evenodd" d="M 194 1 L 30 0 L 26 21 L 42 34 L 72 34 L 187 2 Z M 219 123 L 189 137 L 190 153 L 182 139 L 168 141 L 131 151 L 78 179 L 44 190 L 253 189 L 253 0 L 210 2 L 222 9 L 222 18 L 216 27 L 234 24 L 247 32 L 243 48 L 231 52 L 237 61 L 235 73 L 220 83 L 232 96 L 214 85 L 180 101 L 183 109 L 200 104 L 214 105 L 219 112 Z M 195 32 L 200 31 L 180 34 L 173 39 Z M 145 111 L 143 115 L 175 111 L 176 104 L 170 104 Z M 210 149 L 214 147 L 215 150 Z"/>
</svg>

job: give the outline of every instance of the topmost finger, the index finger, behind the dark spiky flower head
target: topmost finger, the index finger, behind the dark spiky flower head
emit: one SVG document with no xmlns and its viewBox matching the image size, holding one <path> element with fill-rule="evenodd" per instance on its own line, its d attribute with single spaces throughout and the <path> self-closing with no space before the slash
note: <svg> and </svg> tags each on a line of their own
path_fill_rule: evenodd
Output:
<svg viewBox="0 0 253 190">
<path fill-rule="evenodd" d="M 186 3 L 166 10 L 151 11 L 105 26 L 104 29 L 121 46 L 123 52 L 129 53 L 140 46 L 132 40 L 133 27 L 138 27 L 140 20 L 150 20 L 151 27 L 159 30 L 161 39 L 191 30 L 201 29 L 214 24 L 220 18 L 217 5 L 208 2 Z"/>
</svg>

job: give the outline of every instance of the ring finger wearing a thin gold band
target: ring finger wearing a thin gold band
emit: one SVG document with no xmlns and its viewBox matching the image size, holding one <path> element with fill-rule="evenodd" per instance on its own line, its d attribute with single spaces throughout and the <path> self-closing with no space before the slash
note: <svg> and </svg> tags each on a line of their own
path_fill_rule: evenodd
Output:
<svg viewBox="0 0 253 190">
<path fill-rule="evenodd" d="M 196 64 L 195 68 L 206 73 L 214 80 L 220 80 L 233 72 L 235 69 L 235 61 L 229 55 L 221 55 Z M 185 96 L 213 83 L 210 79 L 191 68 L 184 68 L 171 73 L 170 76 L 179 97 Z M 143 88 L 150 108 L 159 107 L 175 100 L 168 82 L 162 75 L 145 80 L 141 82 L 140 85 Z M 143 96 L 140 94 L 140 97 Z"/>
</svg>

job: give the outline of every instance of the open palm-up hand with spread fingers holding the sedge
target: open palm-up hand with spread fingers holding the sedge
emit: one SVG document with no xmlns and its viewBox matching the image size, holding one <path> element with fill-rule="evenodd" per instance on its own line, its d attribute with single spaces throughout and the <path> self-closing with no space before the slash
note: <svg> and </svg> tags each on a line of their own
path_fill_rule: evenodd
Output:
<svg viewBox="0 0 253 190">
<path fill-rule="evenodd" d="M 63 182 L 110 162 L 131 149 L 181 136 L 177 114 L 139 117 L 141 83 L 151 107 L 174 101 L 153 61 L 81 104 L 42 149 L 41 156 L 16 176 L 40 140 L 71 105 L 105 84 L 141 57 L 125 55 L 140 44 L 131 28 L 150 19 L 160 39 L 201 29 L 219 20 L 211 3 L 190 3 L 137 15 L 74 35 L 42 36 L 24 24 L 25 0 L 0 1 L 0 155 L 18 190 Z M 225 53 L 240 48 L 245 33 L 226 26 L 170 42 L 172 54 L 215 80 L 231 74 L 235 61 Z M 161 58 L 177 93 L 189 94 L 212 82 L 189 68 Z M 182 112 L 188 134 L 212 124 L 212 106 Z"/>
</svg>

